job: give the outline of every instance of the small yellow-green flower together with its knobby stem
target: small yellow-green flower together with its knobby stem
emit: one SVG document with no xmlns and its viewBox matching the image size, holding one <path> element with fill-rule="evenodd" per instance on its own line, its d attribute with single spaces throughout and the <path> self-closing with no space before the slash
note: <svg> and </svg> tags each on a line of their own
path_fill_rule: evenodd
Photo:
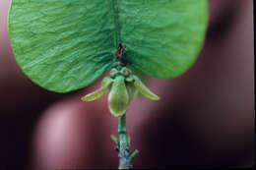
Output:
<svg viewBox="0 0 256 170">
<path fill-rule="evenodd" d="M 130 153 L 130 137 L 126 131 L 126 110 L 134 99 L 140 93 L 152 100 L 159 100 L 160 97 L 153 93 L 146 85 L 142 83 L 139 77 L 134 75 L 121 61 L 126 50 L 126 46 L 118 44 L 115 51 L 116 62 L 111 67 L 108 77 L 101 82 L 101 87 L 96 91 L 82 97 L 83 101 L 93 101 L 103 95 L 109 89 L 108 108 L 114 117 L 119 118 L 118 139 L 111 136 L 115 142 L 115 150 L 119 157 L 118 169 L 132 169 L 132 160 L 139 153 L 136 149 Z"/>
</svg>

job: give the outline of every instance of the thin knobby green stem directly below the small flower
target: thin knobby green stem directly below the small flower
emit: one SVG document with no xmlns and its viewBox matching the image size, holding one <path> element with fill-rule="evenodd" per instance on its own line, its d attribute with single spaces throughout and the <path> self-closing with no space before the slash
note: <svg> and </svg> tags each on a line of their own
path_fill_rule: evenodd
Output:
<svg viewBox="0 0 256 170">
<path fill-rule="evenodd" d="M 111 139 L 117 144 L 117 150 L 119 151 L 118 169 L 132 169 L 132 160 L 139 153 L 138 150 L 134 150 L 131 154 L 129 153 L 130 138 L 127 136 L 125 121 L 126 115 L 124 114 L 119 118 L 118 123 L 119 140 L 117 140 L 114 136 L 111 136 Z"/>
</svg>

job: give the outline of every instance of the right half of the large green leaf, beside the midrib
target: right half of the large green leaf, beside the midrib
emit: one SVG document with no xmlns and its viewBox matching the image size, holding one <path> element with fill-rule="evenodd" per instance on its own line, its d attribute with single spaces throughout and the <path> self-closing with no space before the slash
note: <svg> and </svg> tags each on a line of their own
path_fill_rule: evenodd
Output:
<svg viewBox="0 0 256 170">
<path fill-rule="evenodd" d="M 160 79 L 179 76 L 192 65 L 207 28 L 206 0 L 118 2 L 127 63 Z"/>
</svg>

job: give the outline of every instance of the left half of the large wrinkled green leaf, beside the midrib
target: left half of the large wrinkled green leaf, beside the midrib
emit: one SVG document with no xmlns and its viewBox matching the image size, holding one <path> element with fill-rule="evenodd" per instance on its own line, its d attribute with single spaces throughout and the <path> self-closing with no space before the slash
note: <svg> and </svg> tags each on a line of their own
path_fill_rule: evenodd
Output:
<svg viewBox="0 0 256 170">
<path fill-rule="evenodd" d="M 94 83 L 113 63 L 109 0 L 12 0 L 16 60 L 37 85 L 67 92 Z"/>
</svg>

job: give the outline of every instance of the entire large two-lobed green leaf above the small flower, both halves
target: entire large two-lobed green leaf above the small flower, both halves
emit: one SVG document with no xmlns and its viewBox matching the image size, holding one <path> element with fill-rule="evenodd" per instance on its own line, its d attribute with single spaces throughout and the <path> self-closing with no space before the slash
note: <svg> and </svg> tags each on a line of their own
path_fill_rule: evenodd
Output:
<svg viewBox="0 0 256 170">
<path fill-rule="evenodd" d="M 207 0 L 12 0 L 16 60 L 37 85 L 67 92 L 90 85 L 116 60 L 148 76 L 173 78 L 195 61 Z"/>
</svg>

